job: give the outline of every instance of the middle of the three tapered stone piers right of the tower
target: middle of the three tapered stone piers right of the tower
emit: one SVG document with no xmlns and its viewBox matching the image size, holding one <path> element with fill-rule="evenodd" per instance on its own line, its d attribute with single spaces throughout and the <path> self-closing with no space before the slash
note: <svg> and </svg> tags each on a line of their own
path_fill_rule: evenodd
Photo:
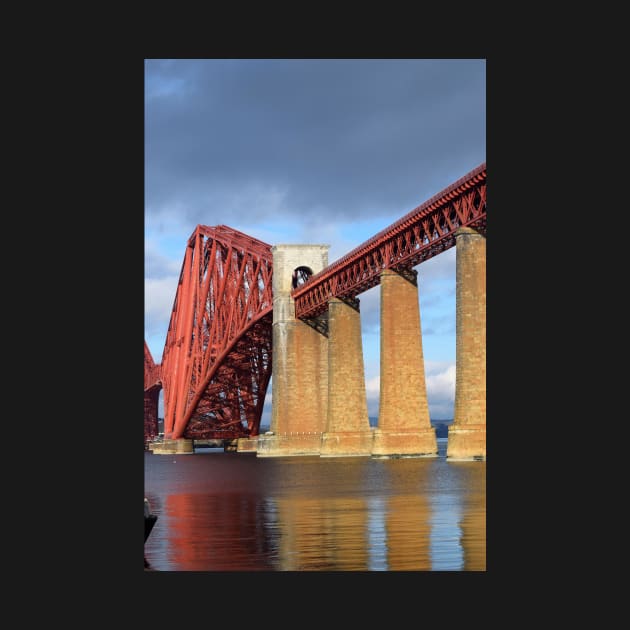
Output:
<svg viewBox="0 0 630 630">
<path fill-rule="evenodd" d="M 437 456 L 424 377 L 415 269 L 381 273 L 381 391 L 372 455 Z"/>
</svg>

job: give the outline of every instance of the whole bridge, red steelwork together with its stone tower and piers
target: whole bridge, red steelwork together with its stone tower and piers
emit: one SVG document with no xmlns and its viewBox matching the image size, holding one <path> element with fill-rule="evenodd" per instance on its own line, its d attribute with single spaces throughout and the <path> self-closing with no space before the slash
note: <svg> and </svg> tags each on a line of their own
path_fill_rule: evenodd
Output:
<svg viewBox="0 0 630 630">
<path fill-rule="evenodd" d="M 270 246 L 197 226 L 159 366 L 145 344 L 145 440 L 147 392 L 161 386 L 167 439 L 231 436 L 259 457 L 436 456 L 413 267 L 456 246 L 447 457 L 485 459 L 485 242 L 485 163 L 331 265 L 327 245 Z M 357 296 L 377 284 L 381 391 L 371 428 Z M 271 426 L 259 435 L 271 374 Z"/>
</svg>

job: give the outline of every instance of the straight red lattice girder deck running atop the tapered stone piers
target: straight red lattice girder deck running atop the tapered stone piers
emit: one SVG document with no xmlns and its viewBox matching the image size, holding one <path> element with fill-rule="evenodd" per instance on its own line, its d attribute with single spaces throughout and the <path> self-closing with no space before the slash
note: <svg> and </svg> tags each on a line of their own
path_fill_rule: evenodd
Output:
<svg viewBox="0 0 630 630">
<path fill-rule="evenodd" d="M 455 231 L 486 231 L 486 164 L 472 170 L 291 292 L 295 316 L 311 319 L 333 298 L 354 299 L 384 269 L 411 269 L 455 245 Z"/>
</svg>

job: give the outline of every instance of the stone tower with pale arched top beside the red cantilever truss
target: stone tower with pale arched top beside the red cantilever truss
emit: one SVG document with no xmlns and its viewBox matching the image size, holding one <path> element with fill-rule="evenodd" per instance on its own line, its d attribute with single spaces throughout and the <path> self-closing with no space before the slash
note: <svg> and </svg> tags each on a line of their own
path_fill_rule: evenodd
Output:
<svg viewBox="0 0 630 630">
<path fill-rule="evenodd" d="M 258 438 L 258 457 L 319 455 L 328 401 L 328 339 L 295 319 L 291 278 L 300 266 L 328 266 L 328 245 L 276 245 L 270 434 Z"/>
</svg>

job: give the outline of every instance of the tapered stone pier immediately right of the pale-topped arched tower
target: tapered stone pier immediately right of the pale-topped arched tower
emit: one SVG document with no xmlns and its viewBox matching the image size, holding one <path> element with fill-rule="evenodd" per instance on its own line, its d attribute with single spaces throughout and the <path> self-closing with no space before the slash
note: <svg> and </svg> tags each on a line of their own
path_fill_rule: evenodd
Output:
<svg viewBox="0 0 630 630">
<path fill-rule="evenodd" d="M 372 429 L 365 395 L 359 300 L 328 302 L 328 423 L 321 456 L 369 455 Z"/>
</svg>

